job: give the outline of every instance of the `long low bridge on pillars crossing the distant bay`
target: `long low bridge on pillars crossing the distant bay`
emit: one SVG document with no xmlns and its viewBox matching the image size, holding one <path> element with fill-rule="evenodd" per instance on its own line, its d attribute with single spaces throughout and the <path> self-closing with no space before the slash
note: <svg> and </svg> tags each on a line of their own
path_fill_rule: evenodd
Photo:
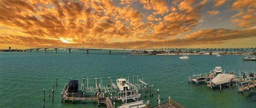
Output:
<svg viewBox="0 0 256 108">
<path fill-rule="evenodd" d="M 36 50 L 38 52 L 38 49 L 44 49 L 44 52 L 46 53 L 47 49 L 55 49 L 55 53 L 57 53 L 57 49 L 67 49 L 68 53 L 71 53 L 71 49 L 77 49 L 77 50 L 85 50 L 86 53 L 89 53 L 89 50 L 109 50 L 108 53 L 111 54 L 111 50 L 124 50 L 124 51 L 153 51 L 153 50 L 146 50 L 146 49 L 111 49 L 111 48 L 89 48 L 89 47 L 39 47 L 39 48 L 30 48 L 30 49 L 24 49 L 23 51 L 32 51 Z"/>
</svg>

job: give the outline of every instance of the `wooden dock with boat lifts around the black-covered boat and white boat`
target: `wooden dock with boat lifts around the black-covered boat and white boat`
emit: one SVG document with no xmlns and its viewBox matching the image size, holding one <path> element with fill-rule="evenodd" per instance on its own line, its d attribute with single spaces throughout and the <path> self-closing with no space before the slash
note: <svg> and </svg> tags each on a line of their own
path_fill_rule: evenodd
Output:
<svg viewBox="0 0 256 108">
<path fill-rule="evenodd" d="M 71 79 L 72 80 L 72 79 Z M 61 93 L 61 102 L 65 101 L 94 101 L 94 103 L 98 103 L 98 106 L 100 104 L 105 104 L 107 108 L 113 108 L 112 99 L 115 101 L 122 100 L 125 104 L 127 103 L 127 100 L 134 100 L 138 101 L 141 97 L 141 94 L 138 93 L 138 90 L 145 89 L 147 83 L 143 82 L 142 80 L 138 79 L 138 82 L 140 84 L 134 84 L 127 82 L 127 84 L 130 86 L 130 90 L 119 90 L 119 88 L 116 86 L 115 83 L 110 83 L 110 77 L 108 77 L 108 86 L 103 86 L 102 80 L 98 81 L 98 78 L 94 78 L 94 86 L 88 86 L 88 78 L 87 78 L 87 87 L 85 87 L 85 79 L 82 78 L 82 84 L 81 84 L 81 90 L 78 91 L 77 94 L 70 94 L 68 93 L 68 83 L 65 84 L 63 88 L 63 92 Z M 135 77 L 134 80 L 135 81 Z M 69 79 L 70 82 L 70 79 Z M 143 84 L 145 87 L 142 87 Z"/>
</svg>

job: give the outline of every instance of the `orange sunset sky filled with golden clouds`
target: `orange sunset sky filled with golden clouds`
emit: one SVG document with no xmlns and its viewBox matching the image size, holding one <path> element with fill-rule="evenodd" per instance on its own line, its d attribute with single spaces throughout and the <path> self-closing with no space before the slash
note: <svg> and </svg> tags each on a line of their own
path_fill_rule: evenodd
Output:
<svg viewBox="0 0 256 108">
<path fill-rule="evenodd" d="M 256 0 L 0 0 L 0 49 L 255 48 Z"/>
</svg>

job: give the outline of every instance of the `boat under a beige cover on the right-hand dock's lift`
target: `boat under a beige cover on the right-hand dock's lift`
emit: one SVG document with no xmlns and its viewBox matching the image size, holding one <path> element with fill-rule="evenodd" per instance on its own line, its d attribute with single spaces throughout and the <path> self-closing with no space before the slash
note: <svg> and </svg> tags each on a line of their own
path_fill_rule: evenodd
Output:
<svg viewBox="0 0 256 108">
<path fill-rule="evenodd" d="M 212 83 L 215 85 L 225 84 L 234 79 L 235 76 L 231 74 L 218 74 L 216 77 L 212 79 Z"/>
</svg>

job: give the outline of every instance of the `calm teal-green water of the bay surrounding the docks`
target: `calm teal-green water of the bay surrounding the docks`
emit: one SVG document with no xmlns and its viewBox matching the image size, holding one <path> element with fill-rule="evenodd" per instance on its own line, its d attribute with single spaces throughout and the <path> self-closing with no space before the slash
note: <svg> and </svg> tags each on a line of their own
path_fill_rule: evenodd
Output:
<svg viewBox="0 0 256 108">
<path fill-rule="evenodd" d="M 154 96 L 144 98 L 140 90 L 140 100 L 150 100 L 157 104 L 157 89 L 160 90 L 161 102 L 168 101 L 170 96 L 186 108 L 255 108 L 256 90 L 238 94 L 234 89 L 223 88 L 210 90 L 205 84 L 189 84 L 188 76 L 208 73 L 220 66 L 228 73 L 234 70 L 255 71 L 256 61 L 242 61 L 243 55 L 189 55 L 190 59 L 181 60 L 179 55 L 126 55 L 108 54 L 108 51 L 39 51 L 33 52 L 0 52 L 0 107 L 1 108 L 98 108 L 93 101 L 68 101 L 61 103 L 61 91 L 68 78 L 81 83 L 82 78 L 89 78 L 89 86 L 94 86 L 94 78 L 102 79 L 108 85 L 108 77 L 115 82 L 116 78 L 126 77 L 130 82 L 133 76 L 154 85 Z M 58 86 L 56 86 L 58 77 Z M 54 84 L 54 103 L 49 88 Z M 80 84 L 79 84 L 80 85 Z M 87 85 L 86 85 L 87 86 Z M 43 89 L 46 89 L 46 102 L 43 101 Z M 52 93 L 52 92 L 51 92 Z M 117 102 L 116 106 L 122 104 Z M 101 105 L 100 108 L 104 108 Z"/>
</svg>

